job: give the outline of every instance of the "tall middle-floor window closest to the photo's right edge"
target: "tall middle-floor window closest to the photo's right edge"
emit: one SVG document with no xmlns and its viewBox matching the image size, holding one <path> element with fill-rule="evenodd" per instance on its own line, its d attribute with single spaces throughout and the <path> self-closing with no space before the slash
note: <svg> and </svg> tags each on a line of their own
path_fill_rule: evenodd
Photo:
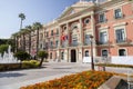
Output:
<svg viewBox="0 0 133 89">
<path fill-rule="evenodd" d="M 116 42 L 124 42 L 125 41 L 125 32 L 124 29 L 115 30 L 116 33 Z"/>
</svg>

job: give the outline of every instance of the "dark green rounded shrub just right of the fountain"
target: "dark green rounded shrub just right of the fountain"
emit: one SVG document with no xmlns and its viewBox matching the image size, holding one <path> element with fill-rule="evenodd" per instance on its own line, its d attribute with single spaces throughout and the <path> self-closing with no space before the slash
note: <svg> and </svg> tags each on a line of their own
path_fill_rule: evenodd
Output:
<svg viewBox="0 0 133 89">
<path fill-rule="evenodd" d="M 14 57 L 17 57 L 19 60 L 24 60 L 24 59 L 29 59 L 30 55 L 25 51 L 18 51 L 14 53 Z"/>
</svg>

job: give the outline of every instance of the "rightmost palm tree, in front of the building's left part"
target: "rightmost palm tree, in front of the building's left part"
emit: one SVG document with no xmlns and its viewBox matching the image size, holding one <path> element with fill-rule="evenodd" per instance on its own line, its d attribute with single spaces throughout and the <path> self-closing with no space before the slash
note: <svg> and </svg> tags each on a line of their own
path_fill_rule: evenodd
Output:
<svg viewBox="0 0 133 89">
<path fill-rule="evenodd" d="M 39 29 L 42 29 L 42 24 L 40 22 L 34 22 L 33 29 L 37 30 L 37 55 L 38 55 L 38 51 L 39 51 Z"/>
</svg>

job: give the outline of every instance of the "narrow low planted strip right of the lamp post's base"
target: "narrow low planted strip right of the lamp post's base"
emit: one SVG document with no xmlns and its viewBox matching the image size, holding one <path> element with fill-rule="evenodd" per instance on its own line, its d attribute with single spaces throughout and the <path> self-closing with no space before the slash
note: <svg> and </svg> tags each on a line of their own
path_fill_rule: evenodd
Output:
<svg viewBox="0 0 133 89">
<path fill-rule="evenodd" d="M 101 66 L 101 67 L 117 67 L 117 68 L 133 68 L 132 65 L 115 65 L 115 63 L 98 63 L 95 66 Z"/>
</svg>

